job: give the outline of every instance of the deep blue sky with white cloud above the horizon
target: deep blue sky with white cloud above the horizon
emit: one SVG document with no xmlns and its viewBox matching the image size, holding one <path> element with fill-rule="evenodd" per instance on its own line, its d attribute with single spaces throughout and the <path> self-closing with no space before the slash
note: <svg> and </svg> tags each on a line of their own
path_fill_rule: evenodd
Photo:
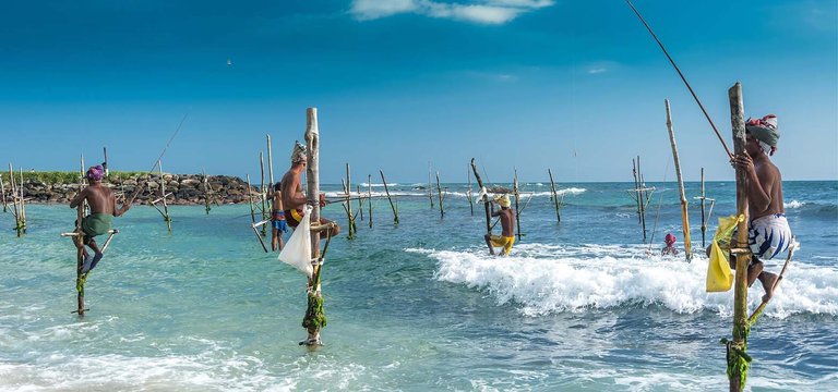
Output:
<svg viewBox="0 0 838 392">
<path fill-rule="evenodd" d="M 783 180 L 838 180 L 838 2 L 651 1 L 655 29 L 732 149 L 728 88 L 777 114 Z M 0 14 L 0 163 L 275 177 L 318 108 L 321 182 L 733 180 L 625 1 L 14 1 Z M 183 125 L 178 124 L 185 117 Z M 435 179 L 434 179 L 435 181 Z"/>
</svg>

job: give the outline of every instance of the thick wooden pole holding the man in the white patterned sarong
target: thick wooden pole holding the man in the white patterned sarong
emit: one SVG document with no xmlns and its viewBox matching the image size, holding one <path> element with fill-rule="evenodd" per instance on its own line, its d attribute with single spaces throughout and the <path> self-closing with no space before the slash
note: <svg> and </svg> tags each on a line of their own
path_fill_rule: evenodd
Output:
<svg viewBox="0 0 838 392">
<path fill-rule="evenodd" d="M 742 85 L 737 82 L 728 90 L 730 100 L 730 122 L 733 127 L 733 150 L 735 155 L 745 151 L 745 108 L 742 99 Z M 737 213 L 745 219 L 739 222 L 737 245 L 731 248 L 747 247 L 747 172 L 737 168 Z M 733 245 L 733 244 L 731 244 Z M 737 277 L 733 289 L 733 341 L 728 344 L 728 378 L 730 391 L 743 391 L 747 377 L 749 360 L 746 359 L 747 335 L 747 266 L 751 254 L 737 252 Z"/>
</svg>

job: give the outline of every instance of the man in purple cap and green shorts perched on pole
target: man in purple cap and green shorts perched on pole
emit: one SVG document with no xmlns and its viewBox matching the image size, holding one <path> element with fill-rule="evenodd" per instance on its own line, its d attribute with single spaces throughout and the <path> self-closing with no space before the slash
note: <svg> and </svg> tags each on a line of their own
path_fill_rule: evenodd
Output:
<svg viewBox="0 0 838 392">
<path fill-rule="evenodd" d="M 81 206 L 85 200 L 91 207 L 91 215 L 82 219 L 82 252 L 84 253 L 84 265 L 82 266 L 82 273 L 87 273 L 96 264 L 101 260 L 101 250 L 96 245 L 96 241 L 93 237 L 108 233 L 110 231 L 111 217 L 119 217 L 131 208 L 130 203 L 123 203 L 122 207 L 117 209 L 117 199 L 113 195 L 113 191 L 109 187 L 101 185 L 101 179 L 105 176 L 105 169 L 101 166 L 95 166 L 87 169 L 85 177 L 87 179 L 87 186 L 79 193 L 72 201 L 70 201 L 70 208 L 76 208 Z M 84 245 L 91 247 L 94 252 L 94 256 L 84 249 Z"/>
</svg>

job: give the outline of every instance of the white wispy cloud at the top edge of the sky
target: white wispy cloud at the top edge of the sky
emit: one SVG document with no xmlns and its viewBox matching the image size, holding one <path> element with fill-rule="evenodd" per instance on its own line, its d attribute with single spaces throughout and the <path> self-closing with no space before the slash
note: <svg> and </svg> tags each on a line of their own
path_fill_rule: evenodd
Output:
<svg viewBox="0 0 838 392">
<path fill-rule="evenodd" d="M 553 0 L 354 0 L 350 13 L 360 21 L 416 13 L 483 24 L 504 24 L 518 15 L 553 4 Z"/>
</svg>

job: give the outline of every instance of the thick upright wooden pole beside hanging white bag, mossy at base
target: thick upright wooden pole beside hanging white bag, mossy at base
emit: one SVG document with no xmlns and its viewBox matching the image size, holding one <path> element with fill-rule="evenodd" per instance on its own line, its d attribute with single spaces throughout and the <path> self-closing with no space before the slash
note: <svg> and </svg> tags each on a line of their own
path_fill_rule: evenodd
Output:
<svg viewBox="0 0 838 392">
<path fill-rule="evenodd" d="M 308 189 L 306 196 L 313 205 L 311 210 L 311 222 L 320 222 L 320 130 L 318 128 L 318 109 L 308 108 L 306 110 L 306 144 L 308 145 L 308 164 L 306 169 L 306 182 Z M 311 233 L 311 259 L 320 258 L 320 232 Z M 302 320 L 303 327 L 308 332 L 307 345 L 321 345 L 320 331 L 325 327 L 325 315 L 323 314 L 323 293 L 320 285 L 320 269 L 322 266 L 315 264 L 314 272 L 308 284 L 308 308 Z M 310 310 L 316 310 L 318 314 L 311 314 Z M 321 318 L 322 317 L 322 318 Z M 321 323 L 319 320 L 323 320 Z"/>
</svg>

